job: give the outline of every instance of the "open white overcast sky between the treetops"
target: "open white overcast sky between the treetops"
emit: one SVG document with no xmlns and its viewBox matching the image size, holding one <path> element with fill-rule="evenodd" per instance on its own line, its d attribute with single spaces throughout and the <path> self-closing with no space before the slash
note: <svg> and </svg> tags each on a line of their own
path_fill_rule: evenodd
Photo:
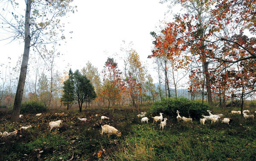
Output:
<svg viewBox="0 0 256 161">
<path fill-rule="evenodd" d="M 168 3 L 160 4 L 159 1 L 74 0 L 78 11 L 65 19 L 68 23 L 64 28 L 67 33 L 73 31 L 73 34 L 66 35 L 67 43 L 58 49 L 64 54 L 57 63 L 60 71 L 67 63 L 73 70 L 80 70 L 89 60 L 101 72 L 107 58 L 120 52 L 122 40 L 125 40 L 127 43 L 133 42 L 134 49 L 140 59 L 148 63 L 148 71 L 157 82 L 157 74 L 153 72 L 147 56 L 151 54 L 153 46 L 150 32 L 157 30 L 160 20 L 165 19 L 168 11 Z M 7 64 L 7 58 L 11 57 L 15 65 L 18 56 L 23 53 L 23 46 L 23 42 L 0 41 L 0 63 Z M 122 69 L 122 60 L 117 62 Z"/>
</svg>

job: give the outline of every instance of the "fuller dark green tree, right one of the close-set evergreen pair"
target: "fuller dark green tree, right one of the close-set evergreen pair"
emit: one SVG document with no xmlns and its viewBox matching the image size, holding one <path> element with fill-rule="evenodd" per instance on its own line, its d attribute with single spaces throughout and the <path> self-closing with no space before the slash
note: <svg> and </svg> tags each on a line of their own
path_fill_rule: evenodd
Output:
<svg viewBox="0 0 256 161">
<path fill-rule="evenodd" d="M 79 70 L 76 70 L 73 74 L 74 77 L 74 100 L 78 102 L 79 111 L 82 111 L 82 104 L 84 101 L 91 101 L 96 98 L 96 92 L 94 91 L 92 83 L 82 75 Z"/>
</svg>

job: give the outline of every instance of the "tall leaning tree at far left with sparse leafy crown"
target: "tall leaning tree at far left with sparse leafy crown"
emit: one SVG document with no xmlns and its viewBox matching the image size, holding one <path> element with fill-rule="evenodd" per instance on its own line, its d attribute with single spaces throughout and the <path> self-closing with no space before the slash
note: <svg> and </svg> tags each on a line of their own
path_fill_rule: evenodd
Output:
<svg viewBox="0 0 256 161">
<path fill-rule="evenodd" d="M 12 38 L 12 40 L 22 38 L 24 40 L 23 58 L 13 106 L 12 121 L 19 120 L 30 47 L 33 47 L 39 52 L 38 47 L 40 47 L 40 44 L 50 43 L 52 37 L 58 35 L 56 32 L 57 29 L 60 32 L 63 31 L 61 27 L 64 25 L 60 23 L 59 17 L 65 16 L 69 11 L 74 12 L 73 7 L 70 6 L 72 1 L 26 0 L 24 16 L 15 12 L 15 8 L 20 7 L 19 3 L 15 0 L 6 0 L 6 8 L 3 11 L 10 11 L 10 6 L 13 7 L 13 11 L 7 12 L 6 14 L 0 13 L 0 20 L 4 26 L 2 26 L 2 29 L 5 32 L 7 31 L 13 34 L 7 38 Z M 65 37 L 61 35 L 60 38 L 64 39 Z"/>
</svg>

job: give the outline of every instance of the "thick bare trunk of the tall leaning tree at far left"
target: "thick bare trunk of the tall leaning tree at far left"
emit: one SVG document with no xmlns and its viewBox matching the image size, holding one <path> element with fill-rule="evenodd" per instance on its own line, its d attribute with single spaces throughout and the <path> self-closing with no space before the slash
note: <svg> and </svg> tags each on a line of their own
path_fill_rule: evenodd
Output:
<svg viewBox="0 0 256 161">
<path fill-rule="evenodd" d="M 26 3 L 26 13 L 25 13 L 25 44 L 24 44 L 24 52 L 23 58 L 20 68 L 20 77 L 17 85 L 17 91 L 15 95 L 14 105 L 13 105 L 13 112 L 12 112 L 12 121 L 17 122 L 20 119 L 20 106 L 23 96 L 23 90 L 25 86 L 26 80 L 26 72 L 28 67 L 29 61 L 29 49 L 30 49 L 30 11 L 31 11 L 31 0 L 27 0 Z"/>
</svg>

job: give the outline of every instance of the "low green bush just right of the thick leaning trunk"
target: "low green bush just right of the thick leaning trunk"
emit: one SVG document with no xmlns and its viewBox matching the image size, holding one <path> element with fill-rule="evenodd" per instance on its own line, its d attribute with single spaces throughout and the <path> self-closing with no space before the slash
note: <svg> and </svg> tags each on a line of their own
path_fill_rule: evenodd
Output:
<svg viewBox="0 0 256 161">
<path fill-rule="evenodd" d="M 20 107 L 20 113 L 38 113 L 45 112 L 46 105 L 40 101 L 27 101 L 23 102 Z"/>
</svg>

